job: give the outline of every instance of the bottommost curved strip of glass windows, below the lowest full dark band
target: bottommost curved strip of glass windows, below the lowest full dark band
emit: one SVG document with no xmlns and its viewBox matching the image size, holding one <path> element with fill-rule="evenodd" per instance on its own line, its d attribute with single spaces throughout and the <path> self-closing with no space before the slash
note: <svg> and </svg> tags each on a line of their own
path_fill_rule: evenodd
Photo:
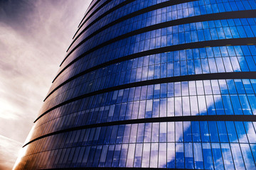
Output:
<svg viewBox="0 0 256 170">
<path fill-rule="evenodd" d="M 39 161 L 35 168 L 255 169 L 255 126 L 188 121 L 75 130 L 33 142 L 24 159 Z"/>
</svg>

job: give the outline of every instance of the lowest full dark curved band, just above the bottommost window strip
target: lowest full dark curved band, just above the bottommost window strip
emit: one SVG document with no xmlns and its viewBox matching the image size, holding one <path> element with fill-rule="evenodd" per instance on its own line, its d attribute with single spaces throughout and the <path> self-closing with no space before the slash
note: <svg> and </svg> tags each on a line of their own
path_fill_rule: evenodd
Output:
<svg viewBox="0 0 256 170">
<path fill-rule="evenodd" d="M 187 122 L 187 121 L 244 121 L 244 122 L 256 122 L 256 115 L 191 115 L 191 116 L 175 116 L 175 117 L 162 117 L 162 118 L 144 118 L 144 119 L 132 119 L 132 120 L 120 120 L 107 123 L 97 123 L 92 125 L 83 125 L 75 128 L 59 130 L 56 132 L 48 133 L 41 137 L 37 137 L 34 140 L 26 143 L 26 145 L 36 140 L 40 140 L 43 137 L 48 137 L 51 135 L 56 135 L 63 132 L 70 132 L 73 130 L 82 130 L 87 128 L 97 128 L 102 126 L 112 126 L 112 125 L 127 125 L 135 123 L 164 123 L 164 122 Z M 23 147 L 25 147 L 24 145 Z"/>
</svg>

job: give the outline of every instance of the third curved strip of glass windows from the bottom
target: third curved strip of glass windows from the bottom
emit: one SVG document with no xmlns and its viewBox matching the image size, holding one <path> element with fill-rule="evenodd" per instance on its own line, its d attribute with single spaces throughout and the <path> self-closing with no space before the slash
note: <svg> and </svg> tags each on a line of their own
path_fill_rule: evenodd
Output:
<svg viewBox="0 0 256 170">
<path fill-rule="evenodd" d="M 200 50 L 200 51 L 199 51 Z M 102 72 L 102 79 L 90 79 L 90 81 L 85 82 L 86 77 L 78 78 L 77 83 L 75 81 L 70 81 L 68 84 L 60 87 L 57 91 L 51 94 L 45 101 L 41 113 L 47 111 L 49 108 L 57 105 L 58 103 L 62 103 L 63 101 L 68 101 L 75 96 L 88 94 L 92 91 L 97 91 L 100 89 L 105 89 L 107 86 L 117 86 L 119 84 L 127 84 L 129 82 L 142 81 L 146 79 L 159 79 L 163 77 L 176 77 L 181 75 L 191 75 L 191 74 L 206 74 L 210 71 L 215 72 L 239 72 L 240 69 L 244 72 L 254 71 L 255 70 L 255 62 L 252 59 L 252 56 L 247 56 L 254 54 L 255 46 L 235 46 L 233 47 L 213 47 L 213 48 L 201 48 L 201 49 L 193 49 L 187 50 L 186 56 L 185 52 L 170 52 L 166 55 L 151 55 L 151 58 L 148 57 L 146 63 L 153 64 L 149 65 L 149 67 L 141 67 L 138 69 L 127 69 L 127 72 Z M 208 54 L 206 52 L 208 51 Z M 181 53 L 181 57 L 179 55 Z M 224 57 L 224 56 L 241 56 L 242 53 L 246 57 Z M 198 60 L 188 60 L 191 59 L 191 55 L 193 55 L 193 59 Z M 163 60 L 161 57 L 163 56 Z M 215 57 L 215 60 L 203 58 L 204 57 Z M 218 56 L 218 57 L 217 57 Z M 223 56 L 223 58 L 219 58 Z M 146 57 L 144 57 L 145 59 Z M 201 58 L 201 59 L 199 59 Z M 186 60 L 187 59 L 187 60 Z M 230 60 L 231 59 L 231 60 Z M 169 62 L 172 60 L 172 62 Z M 186 61 L 183 61 L 186 60 Z M 247 62 L 246 62 L 247 60 Z M 176 62 L 177 61 L 177 62 Z M 181 62 L 178 62 L 181 61 Z M 250 61 L 250 62 L 248 62 Z M 136 63 L 137 61 L 135 61 Z M 161 63 L 161 62 L 167 62 Z M 224 63 L 224 64 L 223 64 Z M 250 63 L 250 69 L 247 67 L 246 63 Z M 137 64 L 137 63 L 136 63 Z M 135 65 L 136 65 L 135 64 Z M 186 64 L 186 65 L 185 65 Z M 117 66 L 117 65 L 115 65 Z M 121 66 L 121 64 L 120 64 Z M 126 66 L 124 65 L 124 68 Z M 114 67 L 112 67 L 114 68 Z M 144 70 L 143 70 L 144 68 Z M 147 69 L 147 70 L 146 70 Z M 107 69 L 104 69 L 107 70 Z M 89 77 L 96 78 L 95 74 L 87 74 Z M 97 72 L 100 74 L 100 72 Z M 119 74 L 118 74 L 119 73 Z M 210 72 L 211 73 L 211 72 Z M 143 75 L 143 76 L 142 76 Z M 147 75 L 147 77 L 146 77 Z M 85 82 L 82 84 L 82 82 Z M 71 88 L 69 88 L 71 86 Z M 74 88 L 77 86 L 76 88 Z M 62 95 L 62 91 L 65 94 L 68 93 L 67 96 Z M 59 97 L 60 96 L 60 97 Z M 64 99 L 64 100 L 63 100 Z"/>
</svg>

